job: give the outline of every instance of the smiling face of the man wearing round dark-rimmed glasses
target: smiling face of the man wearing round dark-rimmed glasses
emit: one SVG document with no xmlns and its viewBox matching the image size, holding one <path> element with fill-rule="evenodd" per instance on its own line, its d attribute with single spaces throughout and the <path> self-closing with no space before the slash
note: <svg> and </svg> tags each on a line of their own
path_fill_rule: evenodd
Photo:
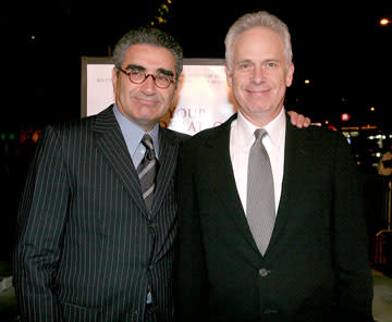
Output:
<svg viewBox="0 0 392 322">
<path fill-rule="evenodd" d="M 147 74 L 175 75 L 175 58 L 163 47 L 147 44 L 132 45 L 126 50 L 121 67 L 124 71 L 137 69 Z M 133 123 L 149 132 L 166 114 L 173 102 L 175 84 L 158 88 L 152 77 L 142 84 L 134 84 L 128 76 L 115 67 L 112 72 L 115 103 L 119 111 Z"/>
</svg>

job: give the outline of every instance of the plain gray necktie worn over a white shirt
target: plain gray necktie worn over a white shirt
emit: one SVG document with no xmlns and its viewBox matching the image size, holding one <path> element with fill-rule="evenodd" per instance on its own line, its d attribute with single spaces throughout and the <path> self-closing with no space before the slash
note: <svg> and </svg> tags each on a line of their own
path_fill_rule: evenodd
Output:
<svg viewBox="0 0 392 322">
<path fill-rule="evenodd" d="M 256 140 L 250 148 L 247 178 L 246 216 L 252 235 L 265 255 L 275 221 L 273 177 L 268 152 L 262 145 L 266 129 L 255 131 Z"/>
</svg>

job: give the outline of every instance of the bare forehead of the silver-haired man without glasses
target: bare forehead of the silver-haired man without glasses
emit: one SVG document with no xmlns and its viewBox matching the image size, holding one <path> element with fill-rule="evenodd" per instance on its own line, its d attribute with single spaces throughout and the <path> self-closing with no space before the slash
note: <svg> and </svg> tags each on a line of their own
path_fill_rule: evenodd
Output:
<svg viewBox="0 0 392 322">
<path fill-rule="evenodd" d="M 243 32 L 234 41 L 234 60 L 252 57 L 281 58 L 284 55 L 282 38 L 270 28 L 253 27 Z"/>
</svg>

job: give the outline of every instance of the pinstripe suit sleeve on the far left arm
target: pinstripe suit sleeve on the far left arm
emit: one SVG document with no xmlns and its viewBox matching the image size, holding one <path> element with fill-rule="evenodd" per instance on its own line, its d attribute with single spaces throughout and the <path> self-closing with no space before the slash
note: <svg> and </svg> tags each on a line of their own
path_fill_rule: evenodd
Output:
<svg viewBox="0 0 392 322">
<path fill-rule="evenodd" d="M 61 144 L 48 127 L 32 162 L 17 215 L 13 267 L 23 321 L 61 321 L 54 288 L 69 194 Z"/>
</svg>

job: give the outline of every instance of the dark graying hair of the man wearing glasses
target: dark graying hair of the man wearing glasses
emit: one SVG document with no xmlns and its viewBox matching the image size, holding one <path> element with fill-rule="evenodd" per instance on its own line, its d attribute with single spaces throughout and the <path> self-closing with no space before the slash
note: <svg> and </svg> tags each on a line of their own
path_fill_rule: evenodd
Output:
<svg viewBox="0 0 392 322">
<path fill-rule="evenodd" d="M 124 54 L 132 45 L 147 44 L 168 49 L 175 59 L 175 77 L 179 78 L 183 69 L 183 50 L 181 45 L 169 34 L 152 27 L 143 27 L 126 33 L 114 46 L 113 63 L 121 69 Z"/>
</svg>

